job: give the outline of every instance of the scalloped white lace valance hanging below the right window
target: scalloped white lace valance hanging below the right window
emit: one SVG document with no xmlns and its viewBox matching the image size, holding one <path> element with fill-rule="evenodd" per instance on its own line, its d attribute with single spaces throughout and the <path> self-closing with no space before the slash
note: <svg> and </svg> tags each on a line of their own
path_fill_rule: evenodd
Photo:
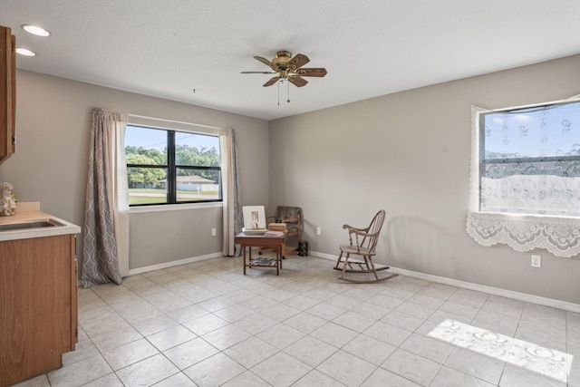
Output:
<svg viewBox="0 0 580 387">
<path fill-rule="evenodd" d="M 498 243 L 524 252 L 546 248 L 555 256 L 580 253 L 580 219 L 469 212 L 469 236 L 482 246 Z"/>
</svg>

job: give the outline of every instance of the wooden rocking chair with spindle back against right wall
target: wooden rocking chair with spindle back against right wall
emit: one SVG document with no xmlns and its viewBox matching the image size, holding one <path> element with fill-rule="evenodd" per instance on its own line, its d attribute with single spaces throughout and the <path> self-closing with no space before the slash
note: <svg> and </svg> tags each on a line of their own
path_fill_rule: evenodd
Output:
<svg viewBox="0 0 580 387">
<path fill-rule="evenodd" d="M 336 261 L 335 270 L 342 270 L 343 275 L 338 279 L 355 284 L 374 284 L 377 282 L 390 279 L 391 276 L 379 276 L 377 272 L 386 270 L 389 266 L 379 265 L 375 266 L 372 262 L 372 256 L 375 255 L 374 249 L 381 234 L 382 223 L 384 222 L 384 209 L 377 212 L 372 218 L 371 224 L 366 228 L 357 228 L 349 225 L 344 225 L 343 228 L 348 229 L 349 244 L 341 245 L 341 254 Z M 343 258 L 343 255 L 344 258 Z M 352 259 L 350 256 L 361 256 L 362 259 Z M 354 279 L 353 277 L 345 276 L 346 273 L 372 273 L 374 278 L 371 279 Z"/>
</svg>

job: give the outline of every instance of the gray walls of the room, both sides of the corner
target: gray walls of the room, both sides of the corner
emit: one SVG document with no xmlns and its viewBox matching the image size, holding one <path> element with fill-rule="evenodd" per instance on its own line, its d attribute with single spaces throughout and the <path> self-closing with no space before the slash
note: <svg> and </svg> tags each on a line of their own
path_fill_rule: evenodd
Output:
<svg viewBox="0 0 580 387">
<path fill-rule="evenodd" d="M 337 255 L 342 225 L 365 226 L 384 208 L 382 262 L 580 303 L 578 258 L 481 247 L 465 231 L 469 106 L 565 99 L 580 93 L 578 68 L 576 55 L 400 92 L 271 121 L 269 133 L 262 120 L 18 71 L 17 151 L 0 166 L 0 181 L 82 225 L 92 107 L 234 128 L 243 204 L 302 207 L 311 250 Z M 220 227 L 209 237 L 220 218 L 221 208 L 132 214 L 130 267 L 221 251 Z M 530 266 L 532 253 L 542 268 Z"/>
</svg>

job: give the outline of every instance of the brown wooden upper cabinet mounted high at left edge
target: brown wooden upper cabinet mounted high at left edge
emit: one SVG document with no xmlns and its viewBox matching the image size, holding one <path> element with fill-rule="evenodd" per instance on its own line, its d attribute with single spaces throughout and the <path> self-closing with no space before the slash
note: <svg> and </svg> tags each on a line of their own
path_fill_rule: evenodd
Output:
<svg viewBox="0 0 580 387">
<path fill-rule="evenodd" d="M 15 118 L 16 38 L 0 25 L 0 164 L 16 150 Z"/>
</svg>

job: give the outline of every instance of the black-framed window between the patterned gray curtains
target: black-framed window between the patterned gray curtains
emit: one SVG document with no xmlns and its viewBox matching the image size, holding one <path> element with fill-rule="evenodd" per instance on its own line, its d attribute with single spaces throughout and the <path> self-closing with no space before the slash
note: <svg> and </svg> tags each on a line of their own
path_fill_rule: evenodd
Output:
<svg viewBox="0 0 580 387">
<path fill-rule="evenodd" d="M 221 201 L 219 137 L 127 125 L 130 206 Z"/>
</svg>

